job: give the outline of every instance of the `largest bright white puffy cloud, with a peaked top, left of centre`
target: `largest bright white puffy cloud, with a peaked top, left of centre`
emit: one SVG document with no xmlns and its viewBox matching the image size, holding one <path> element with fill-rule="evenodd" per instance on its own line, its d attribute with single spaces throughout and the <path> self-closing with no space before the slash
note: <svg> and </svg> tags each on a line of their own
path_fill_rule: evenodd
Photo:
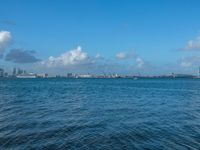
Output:
<svg viewBox="0 0 200 150">
<path fill-rule="evenodd" d="M 42 64 L 48 67 L 70 66 L 88 63 L 90 58 L 87 53 L 82 51 L 78 46 L 74 50 L 67 51 L 58 57 L 50 56 L 48 60 L 43 61 Z"/>
</svg>

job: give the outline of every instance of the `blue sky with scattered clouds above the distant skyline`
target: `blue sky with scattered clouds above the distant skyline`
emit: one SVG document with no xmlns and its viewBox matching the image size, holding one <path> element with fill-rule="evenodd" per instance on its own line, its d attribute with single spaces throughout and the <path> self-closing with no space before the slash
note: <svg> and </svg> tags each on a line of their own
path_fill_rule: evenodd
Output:
<svg viewBox="0 0 200 150">
<path fill-rule="evenodd" d="M 197 74 L 199 0 L 1 0 L 0 67 Z"/>
</svg>

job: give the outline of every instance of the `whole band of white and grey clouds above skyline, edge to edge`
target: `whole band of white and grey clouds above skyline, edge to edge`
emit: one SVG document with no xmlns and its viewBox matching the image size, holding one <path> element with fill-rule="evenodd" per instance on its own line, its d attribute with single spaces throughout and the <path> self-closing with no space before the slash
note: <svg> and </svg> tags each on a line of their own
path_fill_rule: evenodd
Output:
<svg viewBox="0 0 200 150">
<path fill-rule="evenodd" d="M 48 59 L 39 59 L 36 57 L 36 51 L 14 48 L 6 52 L 6 49 L 12 41 L 12 35 L 9 31 L 0 31 L 0 57 L 13 65 L 31 65 L 35 69 L 45 70 L 46 72 L 93 72 L 93 73 L 132 73 L 132 72 L 152 72 L 164 70 L 163 66 L 152 64 L 140 57 L 135 51 L 121 51 L 111 58 L 106 58 L 97 53 L 91 56 L 84 51 L 81 46 L 75 49 L 65 51 L 58 56 L 50 56 Z M 200 50 L 200 37 L 190 40 L 184 50 Z M 198 52 L 197 52 L 198 53 Z M 186 56 L 177 60 L 176 64 L 170 64 L 168 70 L 191 70 L 192 67 L 200 64 L 200 56 Z M 158 67 L 159 66 L 159 67 Z M 158 69 L 160 68 L 160 69 Z M 166 70 L 165 70 L 166 71 Z"/>
</svg>

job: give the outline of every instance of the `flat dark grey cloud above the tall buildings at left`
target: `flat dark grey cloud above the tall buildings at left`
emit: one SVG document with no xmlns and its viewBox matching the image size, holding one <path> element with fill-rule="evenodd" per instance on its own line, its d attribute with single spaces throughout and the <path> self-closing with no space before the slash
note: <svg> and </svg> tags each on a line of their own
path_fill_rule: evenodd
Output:
<svg viewBox="0 0 200 150">
<path fill-rule="evenodd" d="M 35 57 L 35 51 L 22 50 L 22 49 L 12 49 L 6 55 L 5 60 L 14 63 L 35 63 L 40 61 L 40 59 Z"/>
</svg>

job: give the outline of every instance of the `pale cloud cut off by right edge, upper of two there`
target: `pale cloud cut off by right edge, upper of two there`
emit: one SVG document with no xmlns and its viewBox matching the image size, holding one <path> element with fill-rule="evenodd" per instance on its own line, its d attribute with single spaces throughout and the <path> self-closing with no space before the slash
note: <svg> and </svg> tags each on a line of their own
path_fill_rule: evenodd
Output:
<svg viewBox="0 0 200 150">
<path fill-rule="evenodd" d="M 184 50 L 200 50 L 200 36 L 194 40 L 188 41 Z"/>
</svg>

